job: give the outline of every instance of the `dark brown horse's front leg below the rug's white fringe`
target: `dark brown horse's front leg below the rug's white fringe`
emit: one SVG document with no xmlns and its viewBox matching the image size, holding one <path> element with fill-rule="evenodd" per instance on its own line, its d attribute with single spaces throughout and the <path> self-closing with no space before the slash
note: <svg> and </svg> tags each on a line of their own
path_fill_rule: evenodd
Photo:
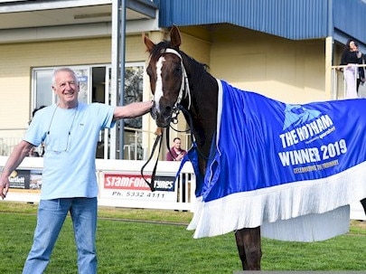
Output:
<svg viewBox="0 0 366 274">
<path fill-rule="evenodd" d="M 243 270 L 260 270 L 260 227 L 236 231 L 235 239 Z"/>
</svg>

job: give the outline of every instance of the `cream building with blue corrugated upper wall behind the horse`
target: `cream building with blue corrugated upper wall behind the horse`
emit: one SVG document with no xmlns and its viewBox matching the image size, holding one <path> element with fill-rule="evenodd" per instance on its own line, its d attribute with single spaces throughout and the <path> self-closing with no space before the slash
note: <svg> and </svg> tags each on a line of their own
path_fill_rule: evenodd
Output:
<svg viewBox="0 0 366 274">
<path fill-rule="evenodd" d="M 118 104 L 120 75 L 126 102 L 150 99 L 141 33 L 158 42 L 172 24 L 182 50 L 217 78 L 289 103 L 333 99 L 333 66 L 346 40 L 366 52 L 365 12 L 361 0 L 2 1 L 0 155 L 23 136 L 33 109 L 55 101 L 54 67 L 78 71 L 86 102 Z M 146 156 L 154 121 L 125 123 L 122 137 L 120 127 L 101 134 L 98 157 Z"/>
</svg>

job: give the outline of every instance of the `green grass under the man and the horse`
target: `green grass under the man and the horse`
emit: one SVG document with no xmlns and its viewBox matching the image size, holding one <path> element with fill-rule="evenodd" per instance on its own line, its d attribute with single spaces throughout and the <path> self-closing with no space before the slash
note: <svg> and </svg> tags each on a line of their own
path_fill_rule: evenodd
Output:
<svg viewBox="0 0 366 274">
<path fill-rule="evenodd" d="M 0 273 L 22 272 L 33 241 L 36 208 L 29 203 L 0 203 Z M 192 213 L 99 208 L 99 274 L 240 270 L 234 235 L 192 239 L 192 231 L 186 231 L 191 219 Z M 366 225 L 352 222 L 349 234 L 328 241 L 263 239 L 262 250 L 263 270 L 364 270 Z M 67 218 L 46 273 L 77 273 L 76 256 Z"/>
</svg>

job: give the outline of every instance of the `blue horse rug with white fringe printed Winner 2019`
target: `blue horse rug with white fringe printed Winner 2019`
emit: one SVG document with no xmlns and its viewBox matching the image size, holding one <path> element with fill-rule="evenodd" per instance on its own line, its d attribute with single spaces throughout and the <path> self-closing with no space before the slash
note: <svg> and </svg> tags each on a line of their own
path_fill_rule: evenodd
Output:
<svg viewBox="0 0 366 274">
<path fill-rule="evenodd" d="M 349 204 L 366 197 L 365 99 L 292 105 L 218 83 L 217 134 L 206 175 L 195 172 L 194 238 L 258 226 L 286 241 L 347 232 Z M 188 159 L 197 171 L 196 146 Z"/>
</svg>

